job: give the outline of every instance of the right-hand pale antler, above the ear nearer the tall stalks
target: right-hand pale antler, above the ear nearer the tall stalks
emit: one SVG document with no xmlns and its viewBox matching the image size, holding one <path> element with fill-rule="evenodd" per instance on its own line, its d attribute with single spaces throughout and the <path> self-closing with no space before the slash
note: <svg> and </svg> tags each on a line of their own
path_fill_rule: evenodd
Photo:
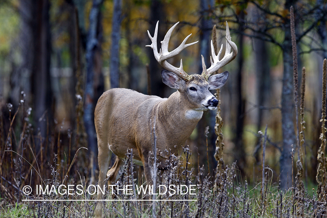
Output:
<svg viewBox="0 0 327 218">
<path fill-rule="evenodd" d="M 211 74 L 213 74 L 214 72 L 218 71 L 220 68 L 222 68 L 223 66 L 225 66 L 226 64 L 228 64 L 229 62 L 231 62 L 237 55 L 237 46 L 234 42 L 231 41 L 231 34 L 229 32 L 229 27 L 226 21 L 226 51 L 225 51 L 225 55 L 224 57 L 219 60 L 220 58 L 220 54 L 222 52 L 223 49 L 223 45 L 221 45 L 220 50 L 218 52 L 218 55 L 215 54 L 215 49 L 214 49 L 214 45 L 212 43 L 211 40 L 211 54 L 212 57 L 210 57 L 210 61 L 211 61 L 211 66 L 206 69 L 206 65 L 204 62 L 204 58 L 202 57 L 202 68 L 203 68 L 203 72 L 202 75 L 206 78 L 209 78 L 209 76 Z M 232 50 L 232 52 L 231 52 Z"/>
</svg>

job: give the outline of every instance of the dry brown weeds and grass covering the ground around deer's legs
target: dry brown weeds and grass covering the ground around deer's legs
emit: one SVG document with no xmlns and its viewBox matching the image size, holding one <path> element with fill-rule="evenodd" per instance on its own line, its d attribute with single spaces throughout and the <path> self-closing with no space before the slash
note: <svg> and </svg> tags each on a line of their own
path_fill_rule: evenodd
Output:
<svg viewBox="0 0 327 218">
<path fill-rule="evenodd" d="M 24 103 L 22 103 L 24 104 Z M 20 106 L 18 110 L 24 108 Z M 16 112 L 18 114 L 18 112 Z M 15 117 L 17 118 L 17 116 Z M 11 123 L 14 122 L 14 117 Z M 25 117 L 26 118 L 26 117 Z M 30 126 L 28 119 L 19 132 L 20 138 L 15 137 L 16 131 L 10 126 L 7 138 L 7 146 L 1 147 L 2 157 L 2 179 L 1 179 L 1 215 L 0 217 L 93 217 L 95 201 L 82 201 L 96 199 L 92 195 L 81 195 L 74 198 L 69 195 L 35 195 L 26 196 L 22 193 L 22 187 L 30 185 L 34 187 L 37 184 L 43 186 L 49 184 L 59 187 L 60 184 L 77 185 L 83 187 L 90 185 L 92 179 L 88 176 L 88 166 L 81 165 L 81 159 L 87 155 L 86 149 L 74 151 L 72 163 L 65 162 L 68 158 L 63 144 L 61 147 L 61 156 L 64 161 L 57 162 L 56 155 L 47 157 L 43 154 L 47 164 L 41 161 L 40 152 L 35 154 L 33 148 L 32 130 L 27 131 Z M 63 134 L 62 134 L 63 135 Z M 59 138 L 63 137 L 60 136 Z M 68 137 L 68 136 L 67 136 Z M 72 137 L 72 136 L 69 136 Z M 50 140 L 58 139 L 58 135 L 53 135 Z M 10 141 L 12 140 L 12 141 Z M 68 140 L 70 142 L 70 140 Z M 17 152 L 9 152 L 17 143 Z M 60 141 L 59 141 L 60 143 Z M 51 144 L 56 144 L 52 143 Z M 73 147 L 73 146 L 72 146 Z M 18 149 L 19 148 L 19 149 Z M 41 149 L 45 149 L 44 147 Z M 56 149 L 53 149 L 57 151 Z M 264 155 L 264 154 L 263 154 Z M 144 200 L 149 199 L 148 195 L 137 194 L 136 185 L 143 184 L 142 176 L 139 176 L 138 167 L 132 162 L 132 153 L 128 153 L 129 159 L 126 160 L 116 185 L 121 189 L 124 185 L 133 187 L 133 194 L 126 195 L 120 192 L 111 193 L 106 190 L 108 200 Z M 174 194 L 168 193 L 157 195 L 157 200 L 175 200 L 175 201 L 106 201 L 105 217 L 291 217 L 296 214 L 298 217 L 324 217 L 326 214 L 326 202 L 318 201 L 317 196 L 309 190 L 305 190 L 302 196 L 295 196 L 291 188 L 288 191 L 279 189 L 278 184 L 272 181 L 273 171 L 267 166 L 264 167 L 263 183 L 248 184 L 247 181 L 237 180 L 236 164 L 226 166 L 223 172 L 215 172 L 215 176 L 203 175 L 202 166 L 197 175 L 193 174 L 188 161 L 191 157 L 191 151 L 188 147 L 184 149 L 182 157 L 170 156 L 167 160 L 167 170 L 157 173 L 157 187 L 159 185 L 196 185 L 196 194 Z M 50 162 L 52 159 L 52 163 Z M 77 160 L 77 161 L 76 161 Z M 43 160 L 44 161 L 44 160 Z M 41 171 L 43 165 L 43 171 Z M 11 168 L 12 167 L 12 168 Z M 10 170 L 14 169 L 14 170 Z M 74 170 L 72 170 L 74 169 Z M 76 172 L 76 173 L 74 173 Z M 219 176 L 217 179 L 216 176 Z M 138 179 L 136 179 L 138 178 Z M 220 188 L 215 189 L 215 181 L 220 182 Z M 54 201 L 31 201 L 24 202 L 24 199 L 46 199 Z M 58 201 L 58 200 L 67 201 Z M 81 201 L 68 201 L 68 200 Z M 184 201 L 195 200 L 195 201 Z M 154 210 L 153 210 L 154 208 Z"/>
</svg>

